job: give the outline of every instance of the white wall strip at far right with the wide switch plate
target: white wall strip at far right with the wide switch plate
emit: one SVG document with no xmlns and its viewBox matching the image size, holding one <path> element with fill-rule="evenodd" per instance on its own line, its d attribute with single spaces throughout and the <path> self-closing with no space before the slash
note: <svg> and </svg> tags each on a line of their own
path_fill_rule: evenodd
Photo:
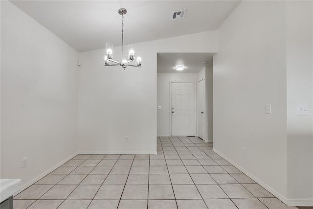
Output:
<svg viewBox="0 0 313 209">
<path fill-rule="evenodd" d="M 313 206 L 313 3 L 287 1 L 288 199 Z M 297 104 L 309 116 L 297 116 Z"/>
</svg>

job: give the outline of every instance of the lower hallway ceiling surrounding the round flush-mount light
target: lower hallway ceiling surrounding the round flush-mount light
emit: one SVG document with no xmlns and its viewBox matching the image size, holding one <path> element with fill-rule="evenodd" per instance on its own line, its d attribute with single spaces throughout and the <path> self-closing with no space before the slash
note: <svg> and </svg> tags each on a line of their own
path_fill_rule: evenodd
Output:
<svg viewBox="0 0 313 209">
<path fill-rule="evenodd" d="M 212 66 L 215 53 L 157 53 L 157 72 L 199 72 L 204 66 Z M 203 64 L 207 62 L 207 64 Z M 177 71 L 175 66 L 185 66 Z"/>
</svg>

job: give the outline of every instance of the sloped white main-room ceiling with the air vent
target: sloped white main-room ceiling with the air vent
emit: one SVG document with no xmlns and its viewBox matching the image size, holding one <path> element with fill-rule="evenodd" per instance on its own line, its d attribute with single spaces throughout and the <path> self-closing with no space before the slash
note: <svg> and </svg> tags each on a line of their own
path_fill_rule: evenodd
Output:
<svg viewBox="0 0 313 209">
<path fill-rule="evenodd" d="M 126 8 L 124 44 L 216 30 L 237 0 L 11 0 L 77 51 L 121 45 L 119 8 Z M 171 13 L 187 9 L 184 19 Z"/>
</svg>

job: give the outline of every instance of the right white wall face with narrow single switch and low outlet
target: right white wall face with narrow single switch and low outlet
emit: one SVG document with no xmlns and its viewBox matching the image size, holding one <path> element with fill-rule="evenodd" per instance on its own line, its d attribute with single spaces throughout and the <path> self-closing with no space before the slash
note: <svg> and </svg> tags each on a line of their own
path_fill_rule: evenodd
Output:
<svg viewBox="0 0 313 209">
<path fill-rule="evenodd" d="M 285 20 L 284 1 L 242 1 L 220 27 L 213 138 L 214 150 L 286 202 Z"/>
</svg>

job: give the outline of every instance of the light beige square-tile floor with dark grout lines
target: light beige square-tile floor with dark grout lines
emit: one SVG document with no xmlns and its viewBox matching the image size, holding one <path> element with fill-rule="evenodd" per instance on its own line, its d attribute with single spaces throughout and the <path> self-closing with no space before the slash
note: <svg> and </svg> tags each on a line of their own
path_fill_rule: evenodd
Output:
<svg viewBox="0 0 313 209">
<path fill-rule="evenodd" d="M 77 155 L 14 197 L 14 209 L 296 209 L 197 137 L 157 138 L 158 155 Z"/>
</svg>

